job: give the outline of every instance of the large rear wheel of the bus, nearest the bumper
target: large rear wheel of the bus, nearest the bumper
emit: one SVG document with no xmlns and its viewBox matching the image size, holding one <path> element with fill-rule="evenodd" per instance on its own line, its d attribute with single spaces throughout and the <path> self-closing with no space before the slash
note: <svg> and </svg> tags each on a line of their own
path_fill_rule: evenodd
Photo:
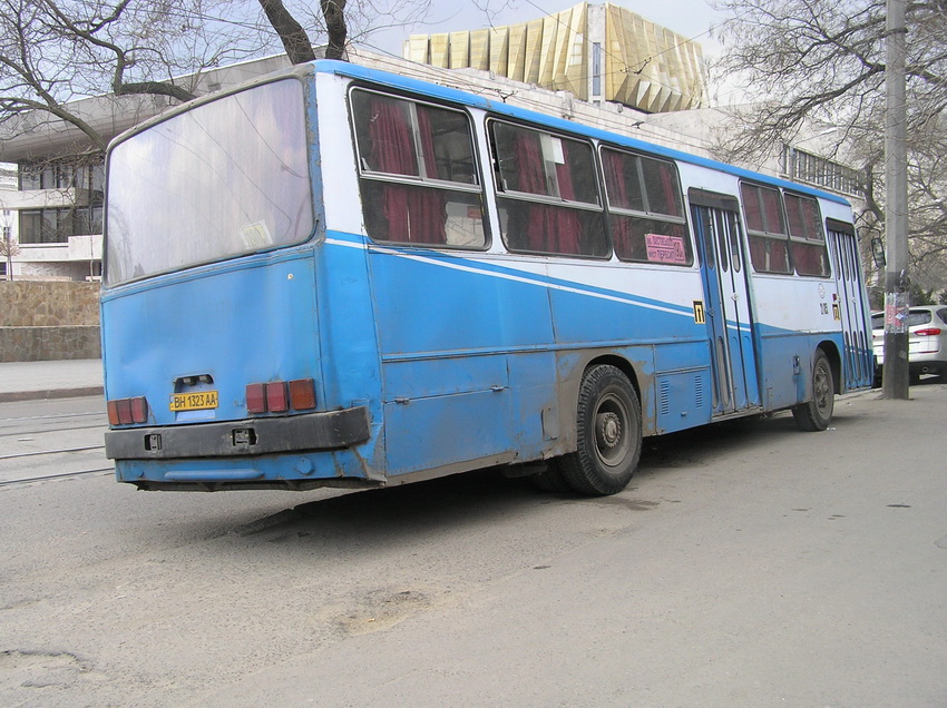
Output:
<svg viewBox="0 0 947 708">
<path fill-rule="evenodd" d="M 560 470 L 580 494 L 621 492 L 642 453 L 642 412 L 627 376 L 615 366 L 585 373 L 578 394 L 576 451 L 563 456 Z"/>
</svg>

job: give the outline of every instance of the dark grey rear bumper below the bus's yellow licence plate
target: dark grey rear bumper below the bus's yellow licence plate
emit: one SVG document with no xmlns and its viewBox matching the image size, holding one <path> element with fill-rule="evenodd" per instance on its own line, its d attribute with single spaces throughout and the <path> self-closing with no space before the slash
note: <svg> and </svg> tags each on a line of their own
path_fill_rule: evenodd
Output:
<svg viewBox="0 0 947 708">
<path fill-rule="evenodd" d="M 109 460 L 240 458 L 281 452 L 340 450 L 369 439 L 364 406 L 219 423 L 113 430 L 105 434 Z"/>
</svg>

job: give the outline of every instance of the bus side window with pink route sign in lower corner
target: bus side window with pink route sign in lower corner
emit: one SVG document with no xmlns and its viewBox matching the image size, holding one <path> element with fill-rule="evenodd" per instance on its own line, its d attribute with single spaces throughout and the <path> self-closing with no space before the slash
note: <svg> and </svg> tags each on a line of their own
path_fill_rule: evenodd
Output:
<svg viewBox="0 0 947 708">
<path fill-rule="evenodd" d="M 609 148 L 602 150 L 602 165 L 618 258 L 692 265 L 693 249 L 674 165 Z"/>
</svg>

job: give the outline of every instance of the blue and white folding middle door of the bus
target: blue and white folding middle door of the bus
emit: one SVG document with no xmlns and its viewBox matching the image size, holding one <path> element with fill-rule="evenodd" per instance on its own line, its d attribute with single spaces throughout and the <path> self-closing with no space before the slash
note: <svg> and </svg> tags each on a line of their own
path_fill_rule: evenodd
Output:
<svg viewBox="0 0 947 708">
<path fill-rule="evenodd" d="M 694 189 L 689 196 L 711 341 L 714 415 L 725 415 L 760 405 L 739 206 L 734 197 Z"/>
</svg>

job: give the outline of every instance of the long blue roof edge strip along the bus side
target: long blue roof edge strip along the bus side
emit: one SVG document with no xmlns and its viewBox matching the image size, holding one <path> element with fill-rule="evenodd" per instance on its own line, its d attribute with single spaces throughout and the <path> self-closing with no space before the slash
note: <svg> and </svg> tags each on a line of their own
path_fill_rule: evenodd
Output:
<svg viewBox="0 0 947 708">
<path fill-rule="evenodd" d="M 625 147 L 650 153 L 652 155 L 666 157 L 678 163 L 687 163 L 690 165 L 696 165 L 699 167 L 706 167 L 709 169 L 733 175 L 741 179 L 749 179 L 756 183 L 783 187 L 785 189 L 791 189 L 797 193 L 820 197 L 828 201 L 834 201 L 837 204 L 850 206 L 849 201 L 845 197 L 830 194 L 828 191 L 822 191 L 821 189 L 814 189 L 812 187 L 807 187 L 806 185 L 800 185 L 798 183 L 781 179 L 779 177 L 771 177 L 769 175 L 763 175 L 762 173 L 744 169 L 742 167 L 736 167 L 726 163 L 712 160 L 705 157 L 699 157 L 696 155 L 691 155 L 689 153 L 683 153 L 673 148 L 663 147 L 653 142 L 646 142 L 644 140 L 638 140 L 636 138 L 632 138 L 619 132 L 611 132 L 608 130 L 593 128 L 580 122 L 566 120 L 564 118 L 557 118 L 547 114 L 528 110 L 525 108 L 517 108 L 515 106 L 510 106 L 509 104 L 504 104 L 502 101 L 490 100 L 488 98 L 484 98 L 482 96 L 469 94 L 460 89 L 449 88 L 439 83 L 409 78 L 388 71 L 381 71 L 379 69 L 369 69 L 368 67 L 363 67 L 357 63 L 349 63 L 345 61 L 332 61 L 328 59 L 322 59 L 314 61 L 313 67 L 314 70 L 320 73 L 334 73 L 352 79 L 371 81 L 372 83 L 378 83 L 380 86 L 387 86 L 390 88 L 397 88 L 413 94 L 421 94 L 424 96 L 430 96 L 431 98 L 439 98 L 451 102 L 461 104 L 463 106 L 469 106 L 471 108 L 488 110 L 492 114 L 507 116 L 510 118 L 519 118 L 521 120 L 537 122 L 549 128 L 573 134 L 579 134 L 589 138 L 595 138 L 606 142 L 613 142 L 615 145 L 622 145 Z"/>
</svg>

